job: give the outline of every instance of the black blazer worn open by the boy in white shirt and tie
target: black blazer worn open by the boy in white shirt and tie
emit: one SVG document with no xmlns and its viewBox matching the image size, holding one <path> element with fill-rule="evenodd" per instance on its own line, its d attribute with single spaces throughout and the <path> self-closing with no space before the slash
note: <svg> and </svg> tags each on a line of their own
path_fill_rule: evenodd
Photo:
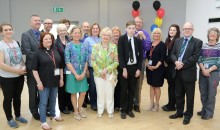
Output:
<svg viewBox="0 0 220 130">
<path fill-rule="evenodd" d="M 142 60 L 143 60 L 143 50 L 142 50 L 142 43 L 141 40 L 134 38 L 134 48 L 135 54 L 137 59 L 137 66 L 138 69 L 141 70 Z M 119 60 L 119 67 L 121 69 L 127 68 L 127 63 L 129 60 L 129 45 L 128 45 L 128 36 L 124 34 L 119 37 L 118 40 L 118 60 Z"/>
</svg>

